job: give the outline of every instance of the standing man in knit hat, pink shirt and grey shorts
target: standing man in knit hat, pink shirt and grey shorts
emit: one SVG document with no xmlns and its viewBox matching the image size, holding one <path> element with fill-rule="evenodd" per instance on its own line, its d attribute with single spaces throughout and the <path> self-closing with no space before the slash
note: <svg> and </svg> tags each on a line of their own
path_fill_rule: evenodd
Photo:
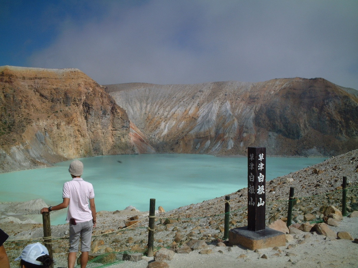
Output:
<svg viewBox="0 0 358 268">
<path fill-rule="evenodd" d="M 95 192 L 89 182 L 85 182 L 81 176 L 83 163 L 74 160 L 68 169 L 72 180 L 64 183 L 63 202 L 49 208 L 42 208 L 41 213 L 59 210 L 68 207 L 67 222 L 69 222 L 68 268 L 73 268 L 76 263 L 79 238 L 81 237 L 81 268 L 85 268 L 88 262 L 88 254 L 91 250 L 92 228 L 96 227 Z"/>
</svg>

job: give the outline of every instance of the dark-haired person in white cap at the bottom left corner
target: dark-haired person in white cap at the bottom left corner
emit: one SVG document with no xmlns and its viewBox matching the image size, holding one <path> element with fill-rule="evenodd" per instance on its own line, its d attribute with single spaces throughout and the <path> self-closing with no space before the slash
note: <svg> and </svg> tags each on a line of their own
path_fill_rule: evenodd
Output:
<svg viewBox="0 0 358 268">
<path fill-rule="evenodd" d="M 15 260 L 20 260 L 20 268 L 48 268 L 53 263 L 47 248 L 39 242 L 27 245 Z"/>
</svg>

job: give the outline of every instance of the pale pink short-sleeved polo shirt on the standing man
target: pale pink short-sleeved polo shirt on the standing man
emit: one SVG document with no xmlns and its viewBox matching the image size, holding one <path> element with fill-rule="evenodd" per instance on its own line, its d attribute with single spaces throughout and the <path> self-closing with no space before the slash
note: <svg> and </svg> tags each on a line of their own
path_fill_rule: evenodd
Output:
<svg viewBox="0 0 358 268">
<path fill-rule="evenodd" d="M 89 199 L 95 198 L 93 186 L 82 178 L 73 178 L 63 184 L 62 198 L 69 198 L 67 222 L 75 219 L 76 222 L 88 222 L 92 219 L 89 208 Z"/>
</svg>

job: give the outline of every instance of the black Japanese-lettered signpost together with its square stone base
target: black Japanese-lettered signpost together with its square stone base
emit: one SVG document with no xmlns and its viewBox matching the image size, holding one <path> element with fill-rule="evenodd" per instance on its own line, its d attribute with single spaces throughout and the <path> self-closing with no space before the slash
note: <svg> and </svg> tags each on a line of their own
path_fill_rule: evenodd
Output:
<svg viewBox="0 0 358 268">
<path fill-rule="evenodd" d="M 247 148 L 247 226 L 229 231 L 229 244 L 251 250 L 286 244 L 285 234 L 265 227 L 266 222 L 266 148 Z"/>
</svg>

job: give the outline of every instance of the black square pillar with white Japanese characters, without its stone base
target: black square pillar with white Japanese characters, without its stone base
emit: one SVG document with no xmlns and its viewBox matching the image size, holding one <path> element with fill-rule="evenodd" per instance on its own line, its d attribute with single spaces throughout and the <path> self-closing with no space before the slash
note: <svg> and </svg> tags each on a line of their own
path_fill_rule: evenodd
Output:
<svg viewBox="0 0 358 268">
<path fill-rule="evenodd" d="M 266 215 L 266 148 L 247 148 L 247 228 L 265 229 Z"/>
</svg>

